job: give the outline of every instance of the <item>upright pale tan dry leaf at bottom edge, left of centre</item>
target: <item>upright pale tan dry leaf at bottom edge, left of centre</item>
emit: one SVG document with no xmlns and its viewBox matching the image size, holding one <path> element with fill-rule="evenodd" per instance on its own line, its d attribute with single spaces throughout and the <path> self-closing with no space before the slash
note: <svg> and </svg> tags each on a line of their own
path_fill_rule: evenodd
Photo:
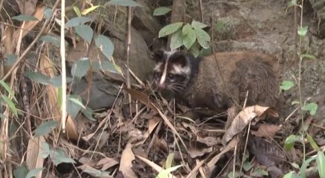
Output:
<svg viewBox="0 0 325 178">
<path fill-rule="evenodd" d="M 132 145 L 128 143 L 121 155 L 120 170 L 125 178 L 137 178 L 132 170 L 132 161 L 135 159 L 132 152 Z"/>
</svg>

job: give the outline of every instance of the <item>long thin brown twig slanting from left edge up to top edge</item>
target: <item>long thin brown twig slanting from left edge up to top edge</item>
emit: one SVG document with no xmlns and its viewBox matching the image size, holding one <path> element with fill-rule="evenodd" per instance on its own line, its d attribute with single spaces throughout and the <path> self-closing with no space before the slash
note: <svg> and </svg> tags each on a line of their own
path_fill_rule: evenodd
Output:
<svg viewBox="0 0 325 178">
<path fill-rule="evenodd" d="M 60 0 L 57 0 L 52 8 L 52 11 L 58 6 Z M 37 40 L 39 39 L 39 37 L 41 37 L 42 33 L 44 32 L 47 24 L 49 24 L 49 20 L 46 19 L 44 22 L 44 25 L 42 26 L 41 30 L 39 30 L 39 33 L 37 34 L 37 36 L 35 37 L 35 39 L 33 40 L 33 42 L 31 42 L 28 47 L 26 48 L 26 50 L 19 56 L 18 60 L 15 62 L 15 64 L 12 65 L 11 69 L 6 73 L 6 75 L 4 75 L 3 78 L 1 78 L 1 80 L 6 80 L 9 75 L 12 73 L 12 71 L 14 71 L 14 69 L 18 66 L 18 64 L 20 62 L 22 62 L 24 60 L 25 55 L 28 53 L 28 51 L 30 51 L 31 48 L 33 48 L 34 44 L 37 42 Z"/>
</svg>

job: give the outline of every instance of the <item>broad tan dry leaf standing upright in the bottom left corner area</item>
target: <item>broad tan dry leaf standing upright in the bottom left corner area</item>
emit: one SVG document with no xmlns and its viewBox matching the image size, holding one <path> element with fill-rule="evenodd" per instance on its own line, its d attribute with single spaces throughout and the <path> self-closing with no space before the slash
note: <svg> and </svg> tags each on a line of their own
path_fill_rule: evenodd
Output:
<svg viewBox="0 0 325 178">
<path fill-rule="evenodd" d="M 35 168 L 42 168 L 44 163 L 44 158 L 39 154 L 43 149 L 41 148 L 42 143 L 45 142 L 43 136 L 39 136 L 35 139 L 30 138 L 27 146 L 26 153 L 26 164 L 29 170 Z M 42 177 L 42 170 L 37 173 L 36 178 Z"/>
</svg>

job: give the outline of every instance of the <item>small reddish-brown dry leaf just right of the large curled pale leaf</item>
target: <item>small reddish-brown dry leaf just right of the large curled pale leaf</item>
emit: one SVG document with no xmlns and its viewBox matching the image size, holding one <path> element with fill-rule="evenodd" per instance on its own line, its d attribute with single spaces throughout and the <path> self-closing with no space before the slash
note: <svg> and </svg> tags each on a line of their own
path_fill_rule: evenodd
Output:
<svg viewBox="0 0 325 178">
<path fill-rule="evenodd" d="M 272 141 L 276 132 L 281 129 L 281 125 L 271 125 L 267 123 L 263 123 L 258 127 L 258 130 L 252 131 L 252 134 L 258 137 L 265 137 L 268 141 Z"/>
</svg>

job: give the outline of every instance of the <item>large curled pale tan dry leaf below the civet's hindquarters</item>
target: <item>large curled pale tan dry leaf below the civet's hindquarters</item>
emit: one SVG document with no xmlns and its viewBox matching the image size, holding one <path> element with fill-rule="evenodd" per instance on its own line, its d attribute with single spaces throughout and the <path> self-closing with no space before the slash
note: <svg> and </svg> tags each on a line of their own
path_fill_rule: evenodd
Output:
<svg viewBox="0 0 325 178">
<path fill-rule="evenodd" d="M 262 116 L 269 107 L 261 107 L 254 105 L 251 107 L 245 107 L 243 111 L 239 112 L 232 121 L 230 127 L 226 130 L 222 137 L 222 143 L 225 145 L 230 141 L 236 134 L 242 132 L 243 129 L 254 119 L 256 116 Z"/>
</svg>

